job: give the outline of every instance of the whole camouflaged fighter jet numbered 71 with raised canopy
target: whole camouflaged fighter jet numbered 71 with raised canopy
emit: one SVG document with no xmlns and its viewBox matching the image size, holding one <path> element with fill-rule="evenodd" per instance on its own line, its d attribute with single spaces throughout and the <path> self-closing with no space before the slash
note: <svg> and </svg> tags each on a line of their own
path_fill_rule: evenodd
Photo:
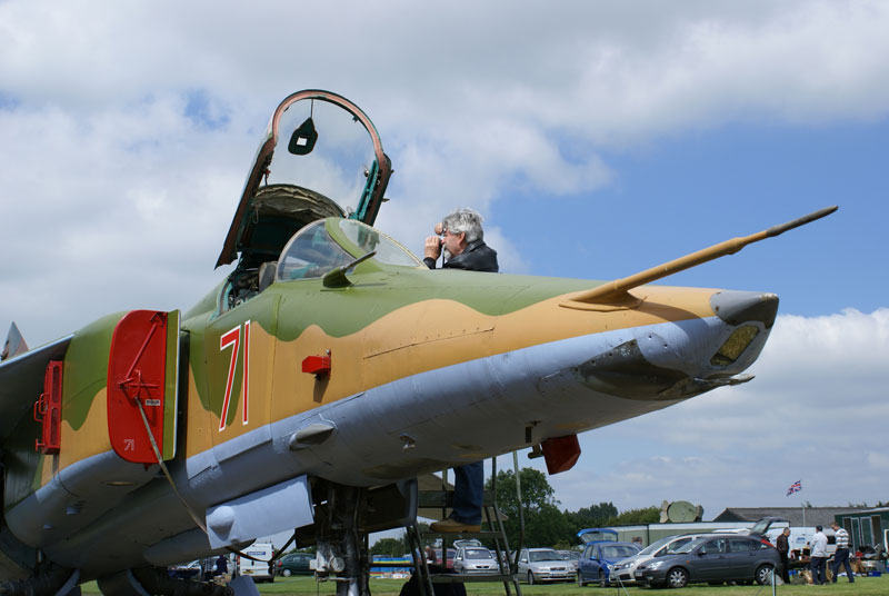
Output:
<svg viewBox="0 0 889 596">
<path fill-rule="evenodd" d="M 610 282 L 429 270 L 372 228 L 370 119 L 308 90 L 272 115 L 190 309 L 108 315 L 0 362 L 0 593 L 173 594 L 167 565 L 294 530 L 366 594 L 368 532 L 416 478 L 749 380 L 772 294 L 648 285 L 823 217 Z M 173 583 L 171 583 L 173 582 Z"/>
</svg>

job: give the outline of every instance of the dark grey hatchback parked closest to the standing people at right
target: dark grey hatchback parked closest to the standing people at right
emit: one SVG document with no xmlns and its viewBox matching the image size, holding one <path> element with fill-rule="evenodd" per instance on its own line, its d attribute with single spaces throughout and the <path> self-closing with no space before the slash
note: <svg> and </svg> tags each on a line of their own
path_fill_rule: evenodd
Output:
<svg viewBox="0 0 889 596">
<path fill-rule="evenodd" d="M 756 536 L 721 535 L 695 538 L 673 555 L 639 565 L 633 577 L 649 586 L 681 588 L 691 583 L 723 582 L 760 585 L 781 566 L 778 549 Z"/>
</svg>

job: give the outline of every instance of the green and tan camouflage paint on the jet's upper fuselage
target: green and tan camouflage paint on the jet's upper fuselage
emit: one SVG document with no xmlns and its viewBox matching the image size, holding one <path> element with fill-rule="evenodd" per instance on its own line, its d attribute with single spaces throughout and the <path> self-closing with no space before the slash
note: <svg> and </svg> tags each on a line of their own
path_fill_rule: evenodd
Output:
<svg viewBox="0 0 889 596">
<path fill-rule="evenodd" d="M 328 230 L 349 246 L 338 226 Z M 430 271 L 373 260 L 358 266 L 349 278 L 352 285 L 347 288 L 326 288 L 321 279 L 276 282 L 222 314 L 218 312 L 220 286 L 186 314 L 188 368 L 187 378 L 180 379 L 184 390 L 180 400 L 187 401 L 188 419 L 179 429 L 186 437 L 180 457 L 419 372 L 571 337 L 713 315 L 710 289 L 646 286 L 632 291 L 637 304 L 596 307 L 571 300 L 598 285 L 589 280 Z M 61 453 L 40 458 L 37 475 L 30 475 L 34 480 L 20 494 L 46 485 L 59 469 L 111 449 L 108 352 L 121 317 L 104 317 L 72 339 L 64 365 Z M 243 329 L 247 321 L 248 424 L 241 423 L 241 346 L 220 430 L 231 364 L 231 348 L 221 349 L 220 337 Z M 307 356 L 328 350 L 329 379 L 302 372 Z M 164 436 L 167 445 L 171 439 Z"/>
</svg>

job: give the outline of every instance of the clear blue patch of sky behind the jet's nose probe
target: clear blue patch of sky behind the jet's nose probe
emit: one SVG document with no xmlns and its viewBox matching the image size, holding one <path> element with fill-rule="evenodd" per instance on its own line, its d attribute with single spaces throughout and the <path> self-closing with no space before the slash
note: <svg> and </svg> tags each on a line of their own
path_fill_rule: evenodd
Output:
<svg viewBox="0 0 889 596">
<path fill-rule="evenodd" d="M 606 153 L 615 171 L 607 188 L 498 197 L 490 217 L 533 247 L 526 257 L 533 274 L 610 279 L 839 205 L 827 220 L 662 284 L 767 289 L 797 315 L 871 311 L 889 289 L 878 241 L 889 216 L 887 155 L 886 119 L 816 130 L 732 125 Z M 517 234 L 528 222 L 538 234 Z M 548 229 L 559 230 L 558 242 L 533 242 Z"/>
</svg>

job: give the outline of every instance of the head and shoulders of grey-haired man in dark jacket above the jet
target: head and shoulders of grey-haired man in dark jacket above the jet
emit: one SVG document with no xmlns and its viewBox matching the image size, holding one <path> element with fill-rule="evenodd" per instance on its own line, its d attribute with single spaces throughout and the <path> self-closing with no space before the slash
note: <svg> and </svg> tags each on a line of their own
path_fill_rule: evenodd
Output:
<svg viewBox="0 0 889 596">
<path fill-rule="evenodd" d="M 496 274 L 497 251 L 485 244 L 482 219 L 472 209 L 457 209 L 436 225 L 436 236 L 429 236 L 423 247 L 423 262 L 430 269 L 444 252 L 442 269 L 467 269 Z"/>
</svg>

